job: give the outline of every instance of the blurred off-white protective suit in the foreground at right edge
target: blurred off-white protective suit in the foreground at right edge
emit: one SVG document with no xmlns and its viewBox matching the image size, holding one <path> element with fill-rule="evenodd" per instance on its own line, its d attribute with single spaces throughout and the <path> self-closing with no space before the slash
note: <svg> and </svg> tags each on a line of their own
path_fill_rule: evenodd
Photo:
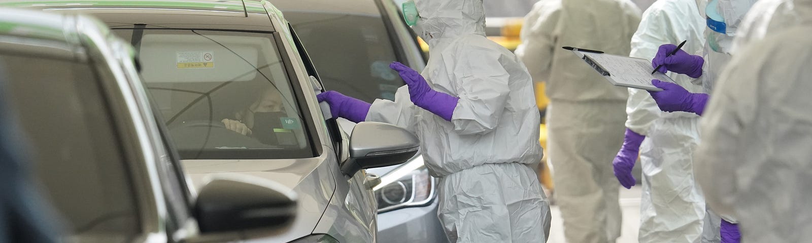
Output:
<svg viewBox="0 0 812 243">
<path fill-rule="evenodd" d="M 762 0 L 702 121 L 697 179 L 707 202 L 736 215 L 742 242 L 812 238 L 812 1 Z"/>
</svg>

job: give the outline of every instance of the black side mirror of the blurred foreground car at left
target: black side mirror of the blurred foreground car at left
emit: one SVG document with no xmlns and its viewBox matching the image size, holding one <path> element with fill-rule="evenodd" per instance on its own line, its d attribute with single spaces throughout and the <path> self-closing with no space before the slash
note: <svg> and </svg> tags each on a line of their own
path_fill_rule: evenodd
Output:
<svg viewBox="0 0 812 243">
<path fill-rule="evenodd" d="M 197 195 L 194 215 L 201 232 L 279 229 L 296 217 L 296 194 L 274 181 L 215 177 Z"/>
</svg>

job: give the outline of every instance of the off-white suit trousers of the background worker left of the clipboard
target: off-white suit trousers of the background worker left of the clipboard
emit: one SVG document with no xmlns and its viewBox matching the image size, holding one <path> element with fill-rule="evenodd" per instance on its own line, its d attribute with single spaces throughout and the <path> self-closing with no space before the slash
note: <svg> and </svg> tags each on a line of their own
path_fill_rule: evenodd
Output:
<svg viewBox="0 0 812 243">
<path fill-rule="evenodd" d="M 623 143 L 623 107 L 621 101 L 547 106 L 547 160 L 568 242 L 614 242 L 620 236 L 620 184 L 611 159 Z"/>
</svg>

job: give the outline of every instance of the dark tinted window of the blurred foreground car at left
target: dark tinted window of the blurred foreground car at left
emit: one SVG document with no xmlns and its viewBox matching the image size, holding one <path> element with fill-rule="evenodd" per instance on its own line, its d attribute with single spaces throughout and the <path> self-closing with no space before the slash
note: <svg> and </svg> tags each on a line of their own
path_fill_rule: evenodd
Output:
<svg viewBox="0 0 812 243">
<path fill-rule="evenodd" d="M 0 65 L 37 179 L 71 237 L 121 242 L 140 232 L 127 164 L 92 68 L 3 54 Z"/>
</svg>

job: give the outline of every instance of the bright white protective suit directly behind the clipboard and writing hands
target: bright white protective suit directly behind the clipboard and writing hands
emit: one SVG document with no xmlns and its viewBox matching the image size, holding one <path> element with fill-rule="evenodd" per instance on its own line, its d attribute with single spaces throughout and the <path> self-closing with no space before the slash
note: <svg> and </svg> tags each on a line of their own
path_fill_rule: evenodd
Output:
<svg viewBox="0 0 812 243">
<path fill-rule="evenodd" d="M 705 19 L 693 0 L 659 0 L 646 12 L 632 37 L 635 58 L 651 60 L 660 45 L 680 43 L 702 52 Z M 702 92 L 687 75 L 669 76 L 689 92 Z M 649 92 L 629 88 L 626 127 L 646 136 L 641 144 L 643 191 L 640 242 L 719 242 L 718 216 L 706 213 L 702 191 L 693 181 L 693 151 L 699 143 L 699 116 L 660 111 Z"/>
</svg>

